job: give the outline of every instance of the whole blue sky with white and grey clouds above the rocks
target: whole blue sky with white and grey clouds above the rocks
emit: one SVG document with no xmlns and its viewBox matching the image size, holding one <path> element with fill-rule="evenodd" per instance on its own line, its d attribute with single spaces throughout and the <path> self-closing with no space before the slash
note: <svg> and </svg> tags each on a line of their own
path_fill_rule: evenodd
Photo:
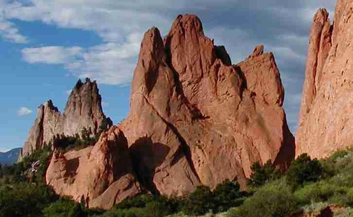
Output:
<svg viewBox="0 0 353 217">
<path fill-rule="evenodd" d="M 63 110 L 78 78 L 99 83 L 103 109 L 117 124 L 143 33 L 167 34 L 178 14 L 201 18 L 232 62 L 253 47 L 272 51 L 285 88 L 288 124 L 297 128 L 308 34 L 318 8 L 334 0 L 0 0 L 0 151 L 22 146 L 36 108 L 52 99 Z"/>
</svg>

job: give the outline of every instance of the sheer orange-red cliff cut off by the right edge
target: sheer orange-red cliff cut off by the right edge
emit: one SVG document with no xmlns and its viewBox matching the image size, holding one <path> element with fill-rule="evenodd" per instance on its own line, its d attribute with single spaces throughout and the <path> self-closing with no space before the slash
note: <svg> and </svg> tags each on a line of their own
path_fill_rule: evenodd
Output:
<svg viewBox="0 0 353 217">
<path fill-rule="evenodd" d="M 322 158 L 352 145 L 353 0 L 338 0 L 335 23 L 319 10 L 310 36 L 296 155 Z"/>
</svg>

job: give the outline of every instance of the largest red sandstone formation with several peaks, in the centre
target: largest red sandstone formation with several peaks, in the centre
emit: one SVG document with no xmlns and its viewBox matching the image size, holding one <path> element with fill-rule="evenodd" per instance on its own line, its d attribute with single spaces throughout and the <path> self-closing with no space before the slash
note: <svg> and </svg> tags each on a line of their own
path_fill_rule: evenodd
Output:
<svg viewBox="0 0 353 217">
<path fill-rule="evenodd" d="M 272 53 L 259 46 L 231 65 L 196 16 L 178 16 L 164 40 L 157 28 L 144 34 L 119 127 L 151 191 L 181 196 L 225 179 L 245 186 L 255 161 L 285 168 L 294 157 L 283 97 Z"/>
</svg>

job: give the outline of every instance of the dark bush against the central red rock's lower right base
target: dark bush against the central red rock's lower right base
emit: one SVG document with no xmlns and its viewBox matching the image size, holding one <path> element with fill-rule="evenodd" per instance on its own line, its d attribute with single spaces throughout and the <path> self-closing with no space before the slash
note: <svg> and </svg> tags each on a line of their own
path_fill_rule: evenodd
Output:
<svg viewBox="0 0 353 217">
<path fill-rule="evenodd" d="M 268 160 L 264 166 L 259 162 L 255 162 L 251 166 L 252 174 L 248 181 L 249 186 L 258 187 L 264 185 L 268 181 L 272 181 L 281 177 L 280 170 L 272 165 L 271 160 Z"/>
</svg>

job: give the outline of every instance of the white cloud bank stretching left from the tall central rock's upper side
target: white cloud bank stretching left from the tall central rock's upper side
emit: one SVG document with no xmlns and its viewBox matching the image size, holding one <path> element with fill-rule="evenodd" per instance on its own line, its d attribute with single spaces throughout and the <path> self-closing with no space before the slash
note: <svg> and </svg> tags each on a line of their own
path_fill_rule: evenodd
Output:
<svg viewBox="0 0 353 217">
<path fill-rule="evenodd" d="M 126 84 L 132 78 L 141 36 L 142 33 L 133 32 L 124 44 L 110 42 L 88 48 L 24 48 L 22 56 L 29 63 L 63 64 L 78 78 L 88 77 L 104 84 Z"/>
</svg>

